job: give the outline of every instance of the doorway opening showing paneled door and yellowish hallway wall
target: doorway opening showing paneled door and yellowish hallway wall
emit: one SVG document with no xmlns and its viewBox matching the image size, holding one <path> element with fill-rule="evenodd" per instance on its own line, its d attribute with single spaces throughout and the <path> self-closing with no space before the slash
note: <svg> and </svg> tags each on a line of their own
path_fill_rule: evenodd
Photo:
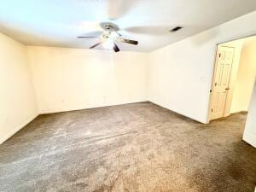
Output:
<svg viewBox="0 0 256 192">
<path fill-rule="evenodd" d="M 247 112 L 256 78 L 256 36 L 218 44 L 208 122 Z"/>
</svg>

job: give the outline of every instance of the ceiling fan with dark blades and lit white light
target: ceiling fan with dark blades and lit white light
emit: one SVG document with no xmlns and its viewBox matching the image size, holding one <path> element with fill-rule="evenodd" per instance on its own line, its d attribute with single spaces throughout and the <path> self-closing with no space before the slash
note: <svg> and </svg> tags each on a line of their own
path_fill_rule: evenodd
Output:
<svg viewBox="0 0 256 192">
<path fill-rule="evenodd" d="M 102 22 L 100 26 L 103 29 L 102 34 L 99 37 L 86 37 L 86 36 L 79 36 L 78 38 L 99 38 L 100 42 L 90 46 L 90 49 L 95 48 L 96 46 L 102 44 L 102 46 L 106 49 L 113 49 L 114 52 L 119 52 L 119 47 L 115 42 L 121 42 L 125 44 L 135 44 L 137 45 L 138 42 L 135 40 L 130 40 L 126 38 L 121 38 L 122 35 L 118 32 L 119 26 L 116 26 L 110 22 Z"/>
</svg>

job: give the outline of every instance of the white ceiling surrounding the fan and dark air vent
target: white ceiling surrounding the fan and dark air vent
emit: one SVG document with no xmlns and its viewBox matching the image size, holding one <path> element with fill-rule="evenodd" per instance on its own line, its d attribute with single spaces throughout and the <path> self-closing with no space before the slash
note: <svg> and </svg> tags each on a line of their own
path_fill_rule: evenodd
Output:
<svg viewBox="0 0 256 192">
<path fill-rule="evenodd" d="M 112 21 L 124 38 L 151 51 L 256 9 L 256 0 L 1 0 L 0 32 L 27 45 L 88 48 L 102 21 Z M 177 33 L 168 32 L 184 26 Z M 97 49 L 102 49 L 98 47 Z"/>
</svg>

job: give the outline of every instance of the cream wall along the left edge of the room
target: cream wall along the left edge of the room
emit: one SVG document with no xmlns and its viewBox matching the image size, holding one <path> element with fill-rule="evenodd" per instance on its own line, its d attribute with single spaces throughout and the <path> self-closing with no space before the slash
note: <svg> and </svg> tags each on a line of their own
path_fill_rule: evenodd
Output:
<svg viewBox="0 0 256 192">
<path fill-rule="evenodd" d="M 26 47 L 0 33 L 0 143 L 37 115 Z"/>
</svg>

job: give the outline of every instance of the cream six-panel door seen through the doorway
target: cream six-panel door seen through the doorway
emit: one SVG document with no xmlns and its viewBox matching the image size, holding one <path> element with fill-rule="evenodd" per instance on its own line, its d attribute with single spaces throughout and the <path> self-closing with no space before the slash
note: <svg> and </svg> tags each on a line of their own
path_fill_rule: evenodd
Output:
<svg viewBox="0 0 256 192">
<path fill-rule="evenodd" d="M 224 116 L 227 93 L 229 91 L 230 73 L 235 48 L 218 46 L 216 66 L 212 84 L 212 99 L 210 119 Z"/>
</svg>

